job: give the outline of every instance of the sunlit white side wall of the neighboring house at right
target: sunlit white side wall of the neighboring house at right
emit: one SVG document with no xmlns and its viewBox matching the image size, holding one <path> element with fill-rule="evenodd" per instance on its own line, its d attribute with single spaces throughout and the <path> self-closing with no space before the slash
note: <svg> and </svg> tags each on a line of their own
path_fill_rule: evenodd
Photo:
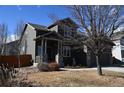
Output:
<svg viewBox="0 0 124 93">
<path fill-rule="evenodd" d="M 116 46 L 113 46 L 112 48 L 112 56 L 122 61 L 120 40 L 116 40 L 114 41 L 114 43 L 116 44 Z"/>
</svg>

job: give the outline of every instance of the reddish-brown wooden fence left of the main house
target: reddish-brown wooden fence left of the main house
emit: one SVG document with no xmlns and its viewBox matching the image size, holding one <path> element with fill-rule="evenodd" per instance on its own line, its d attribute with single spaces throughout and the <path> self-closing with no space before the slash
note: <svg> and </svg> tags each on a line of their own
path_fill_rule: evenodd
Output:
<svg viewBox="0 0 124 93">
<path fill-rule="evenodd" d="M 20 59 L 20 62 L 19 62 Z M 0 56 L 0 65 L 6 65 L 14 66 L 14 67 L 26 67 L 31 66 L 33 64 L 32 62 L 32 56 L 31 55 L 20 55 L 20 56 Z"/>
</svg>

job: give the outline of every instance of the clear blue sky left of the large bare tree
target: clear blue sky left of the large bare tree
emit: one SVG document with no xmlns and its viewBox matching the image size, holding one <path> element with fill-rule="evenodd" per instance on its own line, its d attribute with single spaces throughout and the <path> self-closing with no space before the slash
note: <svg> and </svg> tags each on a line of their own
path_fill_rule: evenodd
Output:
<svg viewBox="0 0 124 93">
<path fill-rule="evenodd" d="M 56 14 L 60 18 L 69 17 L 70 13 L 64 6 L 0 6 L 0 23 L 6 23 L 10 34 L 20 21 L 37 23 L 48 26 L 52 20 L 49 14 Z"/>
</svg>

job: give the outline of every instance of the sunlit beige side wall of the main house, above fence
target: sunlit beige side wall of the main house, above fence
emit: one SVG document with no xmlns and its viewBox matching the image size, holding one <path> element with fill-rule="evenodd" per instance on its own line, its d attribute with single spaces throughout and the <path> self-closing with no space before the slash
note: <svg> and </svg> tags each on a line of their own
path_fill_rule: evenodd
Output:
<svg viewBox="0 0 124 93">
<path fill-rule="evenodd" d="M 26 46 L 25 53 L 31 54 L 32 59 L 35 61 L 35 41 L 33 40 L 34 38 L 36 38 L 36 31 L 32 26 L 28 25 L 23 35 L 22 42 L 24 40 L 26 41 L 26 43 L 24 44 L 24 46 Z"/>
</svg>

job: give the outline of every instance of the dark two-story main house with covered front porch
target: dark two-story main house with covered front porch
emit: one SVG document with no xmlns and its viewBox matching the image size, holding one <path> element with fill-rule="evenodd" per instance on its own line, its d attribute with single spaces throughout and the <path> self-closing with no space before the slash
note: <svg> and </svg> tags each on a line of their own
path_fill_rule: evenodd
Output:
<svg viewBox="0 0 124 93">
<path fill-rule="evenodd" d="M 63 66 L 95 66 L 93 54 L 86 46 L 73 39 L 84 35 L 77 31 L 77 24 L 65 18 L 46 27 L 27 23 L 21 36 L 21 54 L 31 54 L 35 63 L 57 62 Z M 105 58 L 107 58 L 105 60 Z M 104 65 L 111 64 L 111 49 L 103 54 Z"/>
</svg>

